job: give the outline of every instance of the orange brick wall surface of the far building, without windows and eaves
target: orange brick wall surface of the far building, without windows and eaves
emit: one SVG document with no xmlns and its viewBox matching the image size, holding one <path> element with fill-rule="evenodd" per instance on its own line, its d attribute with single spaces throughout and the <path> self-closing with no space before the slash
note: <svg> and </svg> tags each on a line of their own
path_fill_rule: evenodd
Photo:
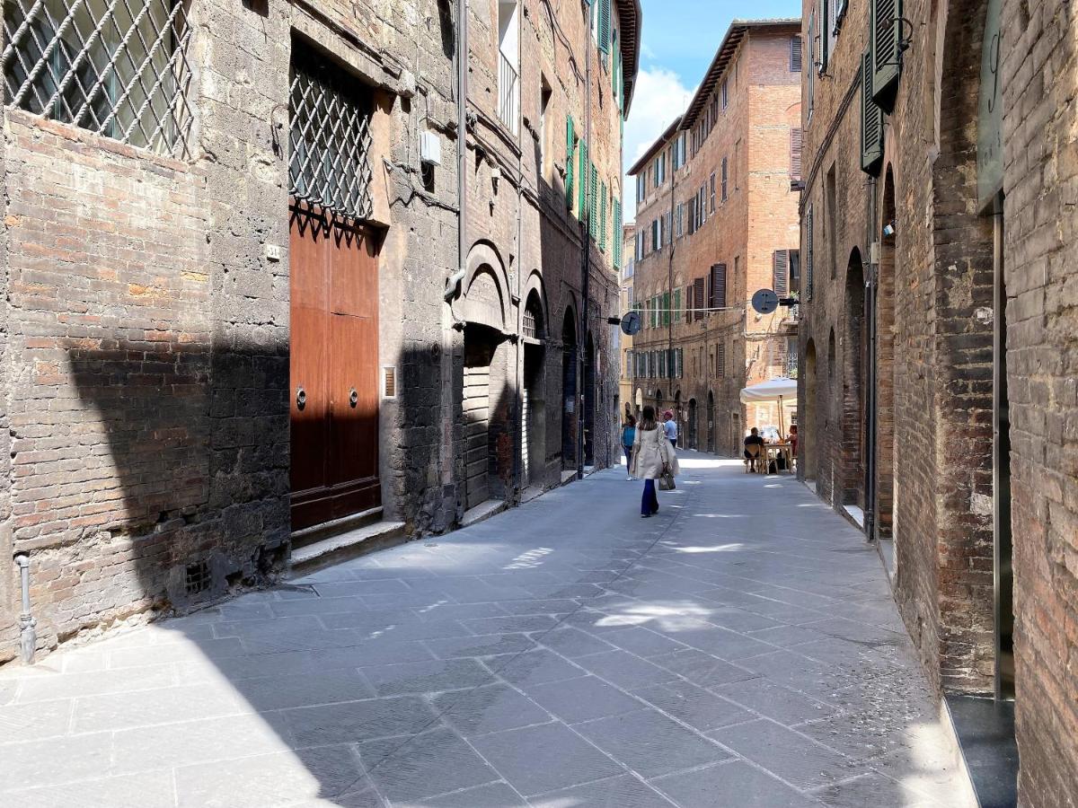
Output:
<svg viewBox="0 0 1078 808">
<path fill-rule="evenodd" d="M 648 254 L 637 262 L 637 302 L 669 290 L 673 275 L 673 288 L 681 291 L 685 307 L 686 288 L 697 278 L 706 278 L 713 264 L 727 265 L 727 306 L 732 310 L 692 322 L 675 315 L 672 329 L 648 328 L 634 339 L 634 351 L 665 350 L 672 339 L 682 351 L 682 378 L 638 379 L 636 387 L 648 391 L 647 403 L 654 403 L 659 389 L 665 396 L 664 406 L 680 401 L 680 443 L 701 450 L 714 445 L 721 454 L 740 456 L 742 438 L 750 427 L 778 423 L 775 408 L 751 407 L 746 412 L 740 393 L 746 385 L 783 374 L 776 358 L 786 347 L 786 332 L 780 326 L 786 310 L 759 316 L 748 302 L 758 289 L 773 285 L 774 251 L 798 245 L 797 196 L 790 193 L 790 129 L 800 119 L 799 78 L 789 70 L 789 39 L 794 31 L 794 26 L 751 30 L 742 41 L 727 68 L 728 105 L 723 110 L 720 103 L 715 128 L 695 154 L 691 133 L 686 133 L 687 165 L 673 171 L 668 162 L 668 179 L 659 189 L 649 182 L 647 198 L 637 210 L 637 232 L 649 239 L 651 221 L 672 209 L 671 182 L 675 217 L 678 204 L 683 204 L 686 211 L 683 235 L 674 242 L 673 266 L 669 245 L 652 252 L 650 241 Z M 721 191 L 723 157 L 728 164 L 725 200 Z M 690 235 L 688 208 L 705 184 L 707 221 Z M 696 305 L 705 307 L 706 303 Z M 720 357 L 724 357 L 721 368 Z M 714 400 L 710 418 L 709 396 Z M 695 414 L 695 427 L 690 413 Z M 758 422 L 758 418 L 762 420 Z M 714 430 L 710 443 L 709 423 Z"/>
</svg>

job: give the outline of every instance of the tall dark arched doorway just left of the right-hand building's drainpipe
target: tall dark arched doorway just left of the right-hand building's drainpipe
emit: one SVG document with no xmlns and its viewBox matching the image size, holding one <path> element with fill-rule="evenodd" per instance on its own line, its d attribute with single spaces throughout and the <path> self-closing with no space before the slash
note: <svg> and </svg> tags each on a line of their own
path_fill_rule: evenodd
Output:
<svg viewBox="0 0 1078 808">
<path fill-rule="evenodd" d="M 866 507 L 865 500 L 865 270 L 854 248 L 846 265 L 842 335 L 842 491 L 841 504 Z"/>
</svg>

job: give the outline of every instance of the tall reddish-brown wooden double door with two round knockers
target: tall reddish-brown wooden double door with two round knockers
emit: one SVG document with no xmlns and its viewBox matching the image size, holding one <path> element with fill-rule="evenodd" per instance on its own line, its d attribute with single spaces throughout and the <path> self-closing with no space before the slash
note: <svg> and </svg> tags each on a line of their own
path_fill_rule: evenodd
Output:
<svg viewBox="0 0 1078 808">
<path fill-rule="evenodd" d="M 293 207 L 290 250 L 298 530 L 382 503 L 378 281 L 374 236 L 363 228 Z"/>
</svg>

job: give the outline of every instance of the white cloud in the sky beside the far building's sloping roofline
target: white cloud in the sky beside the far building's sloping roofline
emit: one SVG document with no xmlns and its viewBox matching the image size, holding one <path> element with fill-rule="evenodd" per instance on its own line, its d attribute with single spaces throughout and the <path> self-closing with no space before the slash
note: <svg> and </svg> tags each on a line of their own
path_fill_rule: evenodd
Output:
<svg viewBox="0 0 1078 808">
<path fill-rule="evenodd" d="M 672 70 L 654 68 L 637 73 L 633 107 L 625 122 L 623 169 L 636 163 L 674 119 L 685 112 L 695 92 L 694 87 L 686 87 Z M 623 187 L 624 221 L 630 222 L 636 215 L 636 181 L 626 175 Z"/>
</svg>

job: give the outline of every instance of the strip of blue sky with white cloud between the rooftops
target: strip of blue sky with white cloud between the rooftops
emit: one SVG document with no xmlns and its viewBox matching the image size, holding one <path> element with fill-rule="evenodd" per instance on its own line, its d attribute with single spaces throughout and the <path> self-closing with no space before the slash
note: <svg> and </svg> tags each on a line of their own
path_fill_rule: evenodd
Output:
<svg viewBox="0 0 1078 808">
<path fill-rule="evenodd" d="M 625 122 L 625 168 L 683 110 L 731 20 L 796 17 L 800 0 L 640 0 L 640 73 Z M 635 185 L 625 178 L 625 221 L 636 213 Z"/>
</svg>

